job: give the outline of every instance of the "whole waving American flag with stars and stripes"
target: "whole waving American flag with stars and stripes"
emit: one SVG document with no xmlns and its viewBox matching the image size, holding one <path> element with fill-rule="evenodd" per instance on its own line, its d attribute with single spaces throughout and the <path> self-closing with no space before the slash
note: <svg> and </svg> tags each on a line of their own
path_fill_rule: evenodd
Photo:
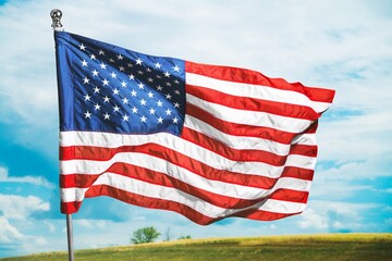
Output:
<svg viewBox="0 0 392 261">
<path fill-rule="evenodd" d="M 54 38 L 62 213 L 97 196 L 203 225 L 304 211 L 333 90 Z"/>
</svg>

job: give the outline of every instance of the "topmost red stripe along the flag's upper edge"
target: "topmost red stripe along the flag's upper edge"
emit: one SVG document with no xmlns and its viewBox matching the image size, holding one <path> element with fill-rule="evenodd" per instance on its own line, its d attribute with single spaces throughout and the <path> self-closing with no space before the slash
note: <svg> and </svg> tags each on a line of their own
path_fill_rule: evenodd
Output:
<svg viewBox="0 0 392 261">
<path fill-rule="evenodd" d="M 186 61 L 185 71 L 187 73 L 205 75 L 217 79 L 292 90 L 307 96 L 313 101 L 331 103 L 334 97 L 334 90 L 331 89 L 306 87 L 301 83 L 291 84 L 282 78 L 269 78 L 259 72 L 246 69 L 200 64 Z"/>
</svg>

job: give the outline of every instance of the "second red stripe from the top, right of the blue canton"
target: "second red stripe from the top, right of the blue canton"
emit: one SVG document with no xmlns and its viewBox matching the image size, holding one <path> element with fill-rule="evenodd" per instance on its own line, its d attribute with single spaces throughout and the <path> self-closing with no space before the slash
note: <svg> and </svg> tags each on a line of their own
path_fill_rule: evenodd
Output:
<svg viewBox="0 0 392 261">
<path fill-rule="evenodd" d="M 232 96 L 218 90 L 193 85 L 186 85 L 186 92 L 203 100 L 238 110 L 267 112 L 275 115 L 305 119 L 309 121 L 315 121 L 320 116 L 320 114 L 315 112 L 311 108 L 305 105 Z"/>
</svg>

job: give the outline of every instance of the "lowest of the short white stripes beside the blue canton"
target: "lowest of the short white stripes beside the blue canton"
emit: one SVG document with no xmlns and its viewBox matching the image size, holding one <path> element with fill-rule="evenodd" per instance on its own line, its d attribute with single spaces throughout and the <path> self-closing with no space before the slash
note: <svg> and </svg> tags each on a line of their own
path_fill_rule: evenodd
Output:
<svg viewBox="0 0 392 261">
<path fill-rule="evenodd" d="M 278 156 L 286 156 L 291 148 L 291 145 L 281 144 L 270 139 L 225 134 L 191 115 L 186 115 L 184 126 L 217 139 L 230 148 L 238 150 L 264 150 Z M 315 134 L 299 134 L 295 136 L 292 144 L 316 145 L 316 136 Z"/>
</svg>

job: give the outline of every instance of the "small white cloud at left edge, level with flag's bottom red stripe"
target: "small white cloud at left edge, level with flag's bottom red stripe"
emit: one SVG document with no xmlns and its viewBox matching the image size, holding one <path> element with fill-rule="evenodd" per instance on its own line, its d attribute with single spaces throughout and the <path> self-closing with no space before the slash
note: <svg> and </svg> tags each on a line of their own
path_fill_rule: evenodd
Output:
<svg viewBox="0 0 392 261">
<path fill-rule="evenodd" d="M 0 194 L 0 211 L 7 219 L 26 220 L 35 211 L 48 211 L 49 202 L 35 196 L 16 196 Z"/>
</svg>

